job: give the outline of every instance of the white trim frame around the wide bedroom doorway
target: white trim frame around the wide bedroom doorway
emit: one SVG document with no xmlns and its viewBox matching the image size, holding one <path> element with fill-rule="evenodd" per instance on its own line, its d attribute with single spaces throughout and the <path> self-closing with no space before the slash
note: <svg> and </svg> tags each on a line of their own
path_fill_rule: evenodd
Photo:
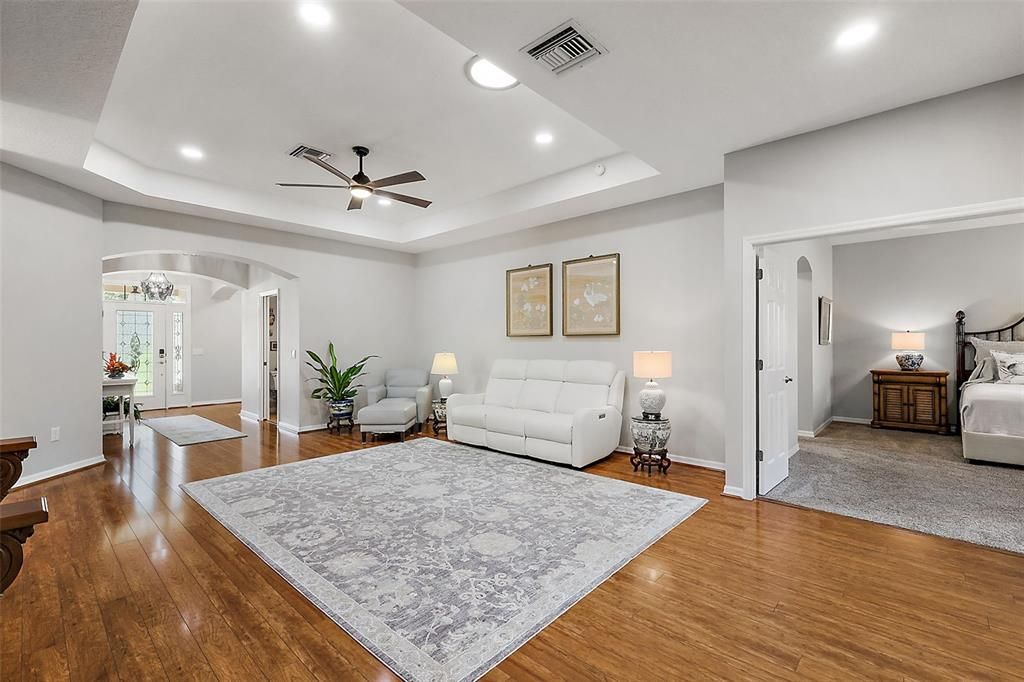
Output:
<svg viewBox="0 0 1024 682">
<path fill-rule="evenodd" d="M 799 242 L 802 240 L 816 239 L 821 237 L 839 237 L 855 232 L 868 230 L 883 230 L 892 228 L 913 228 L 928 223 L 953 223 L 961 220 L 974 218 L 987 218 L 1007 216 L 1024 213 L 1024 197 L 1002 199 L 992 202 L 982 202 L 978 204 L 964 204 L 941 209 L 930 209 L 927 211 L 914 211 L 911 213 L 901 213 L 897 215 L 882 216 L 877 218 L 866 218 L 863 220 L 852 220 L 841 223 L 826 223 L 811 227 L 796 227 L 778 232 L 767 235 L 755 235 L 742 237 L 740 242 L 740 269 L 741 279 L 741 301 L 740 301 L 740 395 L 739 395 L 739 419 L 740 419 L 740 452 L 739 457 L 739 485 L 729 484 L 727 480 L 723 495 L 738 497 L 743 500 L 757 499 L 757 476 L 758 476 L 758 447 L 760 446 L 760 433 L 758 432 L 758 404 L 761 401 L 761 390 L 759 385 L 759 372 L 757 369 L 758 358 L 758 330 L 760 329 L 759 311 L 757 305 L 758 279 L 757 279 L 757 249 L 758 247 L 771 244 L 781 244 L 785 242 Z M 988 226 L 987 224 L 965 225 L 964 229 L 974 229 Z M 744 310 L 751 310 L 753 314 L 743 314 Z M 729 453 L 726 453 L 726 470 L 728 471 Z M 735 460 L 733 460 L 735 461 Z"/>
</svg>

